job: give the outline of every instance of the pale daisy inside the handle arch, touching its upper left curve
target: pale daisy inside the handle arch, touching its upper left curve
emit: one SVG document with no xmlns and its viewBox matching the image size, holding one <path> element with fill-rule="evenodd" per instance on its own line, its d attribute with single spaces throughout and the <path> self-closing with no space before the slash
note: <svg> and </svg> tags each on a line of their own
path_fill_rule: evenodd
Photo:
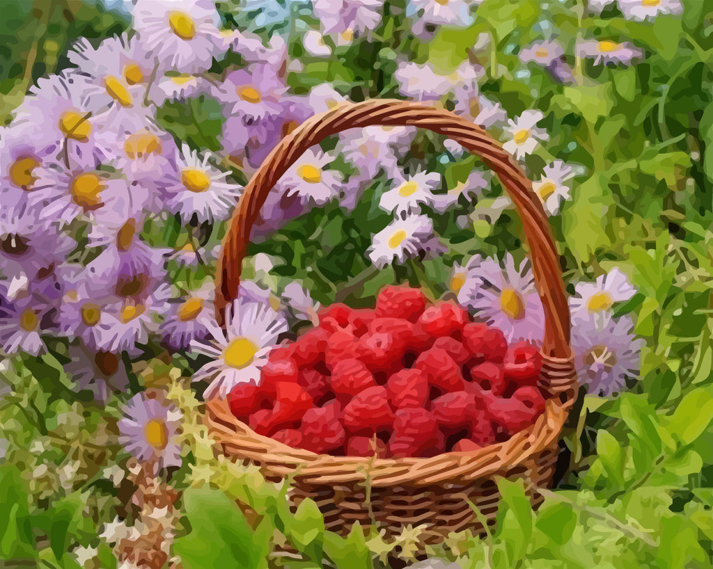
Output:
<svg viewBox="0 0 713 569">
<path fill-rule="evenodd" d="M 302 204 L 324 205 L 337 197 L 342 182 L 342 174 L 324 169 L 333 161 L 324 152 L 307 150 L 279 179 L 277 188 L 286 196 L 299 196 Z"/>
</svg>

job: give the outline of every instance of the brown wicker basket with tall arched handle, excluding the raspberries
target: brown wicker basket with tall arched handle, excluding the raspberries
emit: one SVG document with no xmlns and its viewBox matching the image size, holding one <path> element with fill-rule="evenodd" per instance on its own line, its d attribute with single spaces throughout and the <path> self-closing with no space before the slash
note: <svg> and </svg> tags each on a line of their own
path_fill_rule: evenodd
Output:
<svg viewBox="0 0 713 569">
<path fill-rule="evenodd" d="M 575 393 L 569 311 L 547 216 L 530 181 L 501 145 L 481 127 L 453 113 L 400 100 L 344 103 L 310 118 L 277 145 L 237 204 L 223 241 L 216 310 L 222 321 L 225 306 L 237 294 L 250 229 L 279 177 L 324 137 L 371 125 L 416 126 L 446 135 L 480 156 L 503 182 L 523 221 L 535 283 L 545 308 L 540 375 L 540 386 L 550 393 L 545 412 L 532 427 L 506 442 L 427 459 L 328 456 L 292 449 L 256 434 L 235 419 L 225 400 L 207 403 L 207 422 L 225 455 L 257 464 L 269 480 L 289 476 L 293 503 L 307 496 L 314 499 L 328 529 L 343 533 L 354 521 L 362 526 L 376 522 L 391 536 L 409 525 L 425 525 L 429 537 L 424 542 L 436 543 L 452 531 L 482 528 L 471 503 L 488 523 L 494 521 L 498 477 L 524 479 L 528 490 L 549 484 L 558 438 Z"/>
</svg>

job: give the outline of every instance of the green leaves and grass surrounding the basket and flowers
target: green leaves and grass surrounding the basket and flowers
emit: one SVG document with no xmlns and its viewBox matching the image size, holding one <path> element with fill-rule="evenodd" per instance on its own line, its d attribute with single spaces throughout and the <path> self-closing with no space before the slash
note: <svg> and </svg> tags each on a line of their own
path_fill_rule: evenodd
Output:
<svg viewBox="0 0 713 569">
<path fill-rule="evenodd" d="M 230 3 L 223 4 L 230 11 Z M 386 4 L 391 9 L 399 3 Z M 117 14 L 71 0 L 4 0 L 0 12 L 0 116 L 6 122 L 31 83 L 66 66 L 63 54 L 71 41 L 120 33 L 128 25 Z M 389 16 L 371 43 L 341 48 L 329 64 L 305 59 L 304 71 L 290 76 L 292 87 L 299 93 L 329 81 L 349 86 L 354 100 L 395 96 L 395 53 L 408 51 L 414 61 L 447 73 L 487 33 L 490 50 L 476 54 L 488 69 L 483 93 L 501 100 L 511 115 L 530 108 L 546 115 L 551 140 L 547 151 L 528 158 L 528 166 L 538 169 L 558 157 L 589 172 L 578 178 L 573 201 L 553 218 L 565 279 L 622 267 L 639 290 L 622 311 L 636 313 L 646 347 L 640 380 L 629 392 L 611 400 L 584 398 L 565 433 L 567 474 L 557 489 L 540 491 L 538 511 L 520 484 L 501 481 L 497 529 L 482 540 L 454 535 L 431 554 L 458 560 L 464 569 L 712 566 L 713 2 L 684 0 L 682 16 L 660 16 L 654 23 L 585 15 L 582 4 L 570 0 L 485 0 L 477 14 L 470 28 L 443 29 L 428 43 L 401 37 L 401 16 Z M 576 60 L 576 85 L 553 84 L 536 68 L 528 78 L 516 78 L 517 46 L 540 38 L 537 23 L 545 16 L 570 42 L 570 53 L 578 38 L 596 37 L 632 41 L 647 58 L 616 68 Z M 291 53 L 300 49 L 294 43 Z M 166 127 L 195 147 L 215 147 L 220 120 L 204 120 L 215 110 L 196 104 L 190 112 L 182 116 L 167 105 Z M 202 125 L 200 138 L 191 124 Z M 431 137 L 424 137 L 421 151 L 424 166 L 443 172 L 449 185 L 473 165 L 442 162 Z M 496 224 L 475 221 L 451 234 L 445 259 L 377 275 L 362 254 L 369 232 L 359 220 L 367 214 L 374 219 L 369 198 L 381 191 L 372 188 L 353 215 L 336 207 L 315 212 L 250 252 L 281 256 L 277 276 L 302 279 L 319 301 L 369 303 L 386 282 L 424 276 L 440 293 L 438 283 L 446 281 L 452 261 L 472 251 L 495 254 L 520 246 L 518 220 L 505 212 Z M 476 213 L 498 188 L 492 192 Z M 212 242 L 221 231 L 214 231 Z M 157 239 L 175 243 L 175 233 L 167 229 Z M 361 282 L 364 288 L 354 286 Z M 126 495 L 105 472 L 127 459 L 116 444 L 121 402 L 111 400 L 100 410 L 74 393 L 61 371 L 61 353 L 26 357 L 21 364 L 6 373 L 13 392 L 0 400 L 0 429 L 13 456 L 0 463 L 0 559 L 6 566 L 74 568 L 67 551 L 83 544 L 98 547 L 102 568 L 116 567 L 97 536 L 101 523 L 117 512 L 132 515 L 123 509 Z M 189 362 L 176 357 L 171 366 L 185 372 Z M 158 381 L 182 407 L 190 448 L 172 479 L 183 489 L 175 552 L 185 568 L 265 567 L 275 531 L 306 560 L 272 559 L 273 565 L 311 568 L 326 559 L 338 568 L 366 569 L 384 565 L 389 554 L 408 559 L 415 553 L 418 528 L 394 543 L 373 531 L 366 538 L 359 531 L 341 538 L 324 530 L 309 501 L 290 513 L 284 486 L 215 459 L 200 402 L 184 380 L 164 375 L 156 372 L 153 381 L 163 378 Z M 141 375 L 132 380 L 136 389 L 148 385 Z M 60 484 L 58 470 L 74 461 L 81 463 L 76 481 Z M 248 521 L 236 500 L 265 515 Z"/>
</svg>

